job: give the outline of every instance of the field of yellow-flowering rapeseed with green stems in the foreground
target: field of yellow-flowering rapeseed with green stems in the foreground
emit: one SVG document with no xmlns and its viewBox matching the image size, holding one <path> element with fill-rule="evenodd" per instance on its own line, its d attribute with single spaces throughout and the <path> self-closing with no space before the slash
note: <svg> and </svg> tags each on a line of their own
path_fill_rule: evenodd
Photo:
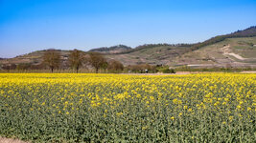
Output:
<svg viewBox="0 0 256 143">
<path fill-rule="evenodd" d="M 0 74 L 0 135 L 36 142 L 254 142 L 256 74 Z"/>
</svg>

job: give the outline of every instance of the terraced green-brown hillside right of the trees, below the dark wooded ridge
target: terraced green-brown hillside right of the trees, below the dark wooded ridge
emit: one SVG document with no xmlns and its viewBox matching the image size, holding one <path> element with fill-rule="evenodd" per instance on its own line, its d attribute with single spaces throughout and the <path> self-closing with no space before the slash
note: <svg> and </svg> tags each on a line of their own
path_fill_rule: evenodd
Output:
<svg viewBox="0 0 256 143">
<path fill-rule="evenodd" d="M 191 47 L 159 46 L 123 54 L 106 54 L 125 65 L 148 63 L 152 65 L 195 67 L 246 67 L 256 65 L 256 37 L 227 38 L 221 42 L 191 51 Z M 196 66 L 197 67 L 197 66 Z"/>
</svg>

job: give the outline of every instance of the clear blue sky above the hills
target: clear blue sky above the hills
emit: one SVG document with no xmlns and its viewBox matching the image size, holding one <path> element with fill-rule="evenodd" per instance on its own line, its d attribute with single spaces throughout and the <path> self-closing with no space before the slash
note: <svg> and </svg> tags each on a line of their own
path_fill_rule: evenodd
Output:
<svg viewBox="0 0 256 143">
<path fill-rule="evenodd" d="M 0 57 L 196 43 L 256 25 L 256 0 L 0 0 Z"/>
</svg>

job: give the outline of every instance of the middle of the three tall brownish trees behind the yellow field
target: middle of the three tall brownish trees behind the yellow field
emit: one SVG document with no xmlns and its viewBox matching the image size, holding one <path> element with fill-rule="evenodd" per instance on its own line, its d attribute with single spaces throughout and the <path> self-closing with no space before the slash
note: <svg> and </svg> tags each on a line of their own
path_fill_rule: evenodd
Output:
<svg viewBox="0 0 256 143">
<path fill-rule="evenodd" d="M 70 66 L 74 69 L 76 69 L 77 73 L 79 72 L 79 69 L 81 68 L 82 62 L 84 60 L 84 52 L 74 50 L 71 51 L 71 53 L 68 56 L 68 62 Z"/>
</svg>

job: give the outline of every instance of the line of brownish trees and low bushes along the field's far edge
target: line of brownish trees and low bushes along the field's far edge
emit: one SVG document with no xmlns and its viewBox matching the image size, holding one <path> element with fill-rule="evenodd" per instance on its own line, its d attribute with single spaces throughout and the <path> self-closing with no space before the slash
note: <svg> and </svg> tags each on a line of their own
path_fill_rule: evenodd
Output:
<svg viewBox="0 0 256 143">
<path fill-rule="evenodd" d="M 61 55 L 62 54 L 62 55 Z M 1 67 L 1 66 L 0 66 Z M 71 69 L 80 72 L 81 69 L 94 69 L 96 73 L 100 72 L 171 72 L 169 67 L 163 65 L 149 65 L 137 64 L 128 65 L 125 67 L 120 61 L 111 59 L 106 60 L 104 54 L 96 51 L 70 51 L 68 55 L 63 54 L 61 51 L 51 49 L 44 51 L 42 61 L 37 63 L 21 63 L 2 66 L 6 71 L 25 72 L 30 70 L 50 70 L 55 72 L 57 70 Z M 65 72 L 65 71 L 63 71 Z"/>
</svg>

